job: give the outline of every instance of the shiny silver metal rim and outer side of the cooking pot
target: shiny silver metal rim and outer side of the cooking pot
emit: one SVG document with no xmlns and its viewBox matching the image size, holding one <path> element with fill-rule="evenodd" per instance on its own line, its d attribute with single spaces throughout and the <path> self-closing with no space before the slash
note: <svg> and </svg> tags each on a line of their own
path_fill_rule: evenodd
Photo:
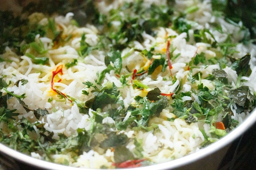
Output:
<svg viewBox="0 0 256 170">
<path fill-rule="evenodd" d="M 236 138 L 241 136 L 247 129 L 249 129 L 256 122 L 256 109 L 254 109 L 249 117 L 247 117 L 242 124 L 240 124 L 236 129 L 231 131 L 227 136 L 222 137 L 219 141 L 199 150 L 196 153 L 187 155 L 185 157 L 175 159 L 169 162 L 160 163 L 152 166 L 132 168 L 133 170 L 148 170 L 148 169 L 216 169 L 212 165 L 218 164 L 216 158 L 221 158 L 224 156 L 225 151 L 228 149 L 228 145 L 231 144 Z M 59 164 L 54 164 L 51 162 L 46 162 L 43 160 L 32 158 L 28 155 L 15 151 L 3 144 L 0 144 L 0 152 L 33 167 L 38 167 L 40 169 L 80 169 L 75 167 L 63 166 Z M 215 158 L 214 158 L 215 157 Z M 213 164 L 211 164 L 213 162 Z"/>
</svg>

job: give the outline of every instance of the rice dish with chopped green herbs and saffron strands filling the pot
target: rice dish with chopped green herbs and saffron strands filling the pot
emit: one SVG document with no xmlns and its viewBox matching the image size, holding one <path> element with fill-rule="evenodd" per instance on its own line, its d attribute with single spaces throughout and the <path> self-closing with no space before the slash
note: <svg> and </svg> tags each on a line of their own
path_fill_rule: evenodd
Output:
<svg viewBox="0 0 256 170">
<path fill-rule="evenodd" d="M 243 22 L 208 0 L 86 3 L 84 26 L 34 12 L 8 28 L 21 34 L 1 45 L 1 143 L 74 167 L 147 166 L 250 115 L 256 46 Z"/>
</svg>

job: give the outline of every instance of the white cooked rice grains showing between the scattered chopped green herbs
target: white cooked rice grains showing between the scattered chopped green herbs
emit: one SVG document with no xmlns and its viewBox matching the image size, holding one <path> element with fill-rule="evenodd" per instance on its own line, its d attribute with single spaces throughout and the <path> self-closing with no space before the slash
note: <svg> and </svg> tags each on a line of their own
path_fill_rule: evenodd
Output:
<svg viewBox="0 0 256 170">
<path fill-rule="evenodd" d="M 152 1 L 144 2 L 145 6 L 150 5 L 151 3 Z M 157 1 L 157 3 L 165 4 L 166 2 Z M 176 3 L 177 9 L 183 11 L 188 6 L 195 5 L 197 2 L 177 1 Z M 109 15 L 111 9 L 117 9 L 123 4 L 124 1 L 120 0 L 116 0 L 112 4 L 106 4 L 104 1 L 100 1 L 97 7 L 99 11 Z M 109 73 L 107 72 L 105 74 L 102 86 L 108 86 L 110 82 L 117 87 L 118 91 L 120 91 L 119 100 L 124 102 L 125 110 L 131 104 L 136 107 L 136 103 L 138 102 L 135 99 L 136 96 L 142 98 L 146 97 L 148 92 L 155 88 L 159 88 L 161 94 L 166 94 L 165 97 L 170 103 L 173 99 L 168 94 L 180 89 L 180 93 L 188 94 L 188 92 L 191 92 L 191 95 L 182 97 L 181 100 L 183 102 L 196 100 L 198 104 L 200 104 L 201 101 L 196 95 L 196 92 L 198 92 L 197 88 L 200 83 L 210 90 L 215 89 L 212 80 L 205 78 L 207 78 L 209 74 L 212 74 L 214 69 L 220 69 L 219 63 L 207 66 L 199 64 L 193 69 L 190 68 L 190 70 L 188 69 L 188 63 L 193 60 L 196 54 L 204 54 L 206 59 L 220 55 L 220 48 L 213 48 L 209 43 L 194 41 L 193 30 L 200 30 L 203 28 L 209 29 L 214 38 L 212 38 L 210 33 L 205 33 L 205 35 L 206 39 L 212 44 L 224 43 L 227 38 L 231 38 L 234 42 L 239 42 L 244 38 L 245 32 L 241 30 L 242 23 L 235 26 L 226 22 L 223 18 L 213 16 L 211 13 L 210 1 L 203 1 L 202 3 L 198 2 L 196 5 L 198 10 L 187 14 L 188 20 L 195 21 L 188 33 L 184 32 L 179 34 L 171 28 L 163 27 L 158 27 L 156 29 L 156 36 L 144 32 L 142 33 L 144 41 L 133 41 L 132 43 L 129 43 L 129 47 L 126 47 L 121 51 L 123 67 L 120 70 L 120 73 L 117 74 L 115 70 L 110 70 Z M 122 16 L 122 14 L 120 15 Z M 115 131 L 116 134 L 125 134 L 128 137 L 129 140 L 125 147 L 133 153 L 134 159 L 145 159 L 145 165 L 150 164 L 149 162 L 160 163 L 170 161 L 196 152 L 201 148 L 202 144 L 205 144 L 205 135 L 207 136 L 207 141 L 213 142 L 218 140 L 221 135 L 219 137 L 212 135 L 212 125 L 210 123 L 205 123 L 205 121 L 200 121 L 199 119 L 195 122 L 188 123 L 186 119 L 178 118 L 177 115 L 172 113 L 173 105 L 171 104 L 162 109 L 159 115 L 150 117 L 148 127 L 151 127 L 151 129 L 138 128 L 139 125 L 137 125 L 137 129 L 132 126 L 128 126 L 125 130 L 116 129 L 115 124 L 117 122 L 113 120 L 112 117 L 106 115 L 106 113 L 113 108 L 110 104 L 107 104 L 102 109 L 92 110 L 90 108 L 88 114 L 80 113 L 80 106 L 84 105 L 85 101 L 94 98 L 94 94 L 92 93 L 93 88 L 89 88 L 83 83 L 95 83 L 99 74 L 107 68 L 105 64 L 105 56 L 107 52 L 101 49 L 92 49 L 86 57 L 81 57 L 78 51 L 81 48 L 83 34 L 85 34 L 85 39 L 83 41 L 93 47 L 101 41 L 100 31 L 93 25 L 77 27 L 72 24 L 72 17 L 73 13 L 68 13 L 65 17 L 54 17 L 57 31 L 62 31 L 61 38 L 66 39 L 68 36 L 72 35 L 70 39 L 63 44 L 56 45 L 51 38 L 48 38 L 47 36 L 42 37 L 39 34 L 35 38 L 36 43 L 42 43 L 44 49 L 48 50 L 44 56 L 49 59 L 49 64 L 36 64 L 28 55 L 19 56 L 12 52 L 10 48 L 7 47 L 5 49 L 6 52 L 2 55 L 2 58 L 4 58 L 5 61 L 0 63 L 0 72 L 2 75 L 5 75 L 3 80 L 7 82 L 7 84 L 8 82 L 11 82 L 6 89 L 16 95 L 25 93 L 26 97 L 22 99 L 22 101 L 24 101 L 27 108 L 30 109 L 30 111 L 25 109 L 24 104 L 15 97 L 7 100 L 8 108 L 11 110 L 17 109 L 17 112 L 20 113 L 17 116 L 17 120 L 21 121 L 23 118 L 26 118 L 32 124 L 37 122 L 38 124 L 43 125 L 46 131 L 53 132 L 53 139 L 59 140 L 60 137 L 58 134 L 60 133 L 66 137 L 77 136 L 77 129 L 85 129 L 90 133 L 92 124 L 95 124 L 94 118 L 96 113 L 101 115 L 102 124 L 108 124 L 110 127 L 113 127 L 112 130 Z M 35 18 L 37 18 L 37 20 L 35 20 Z M 38 23 L 43 26 L 47 25 L 49 22 L 49 20 L 41 13 L 34 13 L 29 19 L 30 22 Z M 213 23 L 219 24 L 222 28 L 222 32 L 215 29 Z M 120 23 L 119 21 L 113 21 L 112 24 L 118 26 Z M 186 41 L 187 38 L 189 38 L 189 41 Z M 125 43 L 127 39 L 123 39 L 122 41 Z M 157 55 L 153 55 L 152 58 L 160 59 L 161 55 L 165 55 L 169 50 L 167 49 L 167 41 L 170 41 L 172 49 L 174 49 L 172 55 L 178 56 L 177 58 L 172 58 L 171 61 L 171 73 L 172 76 L 176 78 L 176 81 L 173 81 L 168 66 L 164 71 L 161 71 L 161 67 L 156 68 L 151 75 L 147 75 L 141 80 L 134 78 L 133 70 L 140 70 L 141 68 L 147 70 L 152 62 L 151 59 L 143 56 L 140 51 L 145 49 L 150 51 L 153 48 L 154 50 L 152 53 Z M 108 44 L 108 46 L 111 47 L 111 44 Z M 251 54 L 249 64 L 252 73 L 249 77 L 242 76 L 239 78 L 236 71 L 227 66 L 223 70 L 227 74 L 226 78 L 228 84 L 231 86 L 230 89 L 235 89 L 237 80 L 239 79 L 241 85 L 249 87 L 247 99 L 253 100 L 251 96 L 254 96 L 253 92 L 256 91 L 256 46 L 253 44 L 245 46 L 242 43 L 237 43 L 233 48 L 238 51 L 234 53 L 232 56 L 233 58 L 239 59 L 247 53 Z M 33 54 L 33 50 L 33 48 L 28 48 L 26 54 Z M 74 62 L 74 59 L 77 60 L 76 64 L 69 68 L 65 66 L 67 63 Z M 168 62 L 167 58 L 166 62 Z M 114 63 L 111 64 L 114 65 Z M 58 66 L 59 69 L 60 66 L 62 67 L 62 74 L 58 72 L 54 77 L 53 72 L 57 72 L 56 69 L 58 69 Z M 200 79 L 195 79 L 194 82 L 189 81 L 190 75 L 195 75 L 198 72 L 201 72 Z M 129 74 L 126 78 L 127 85 L 123 86 L 120 81 L 120 75 L 127 74 Z M 19 81 L 22 79 L 28 80 L 28 82 L 22 84 L 22 81 Z M 18 83 L 15 84 L 15 82 Z M 135 88 L 133 84 L 138 82 L 142 83 L 147 88 L 142 90 L 141 88 Z M 53 86 L 51 86 L 51 83 L 53 83 Z M 63 98 L 60 99 L 54 89 L 64 94 L 64 97 L 62 96 Z M 83 93 L 84 91 L 89 94 L 85 95 Z M 3 92 L 3 95 L 7 94 L 3 89 L 1 92 Z M 65 96 L 67 96 L 67 99 Z M 72 100 L 72 102 L 68 99 Z M 236 113 L 237 107 L 235 102 L 231 104 L 230 108 L 233 112 L 231 118 L 232 120 L 241 123 L 249 115 L 250 111 L 238 114 Z M 42 115 L 37 119 L 33 110 L 38 108 L 47 110 L 49 114 Z M 114 108 L 116 108 L 116 106 L 114 106 Z M 120 107 L 119 109 L 122 108 Z M 122 117 L 121 121 L 125 122 L 131 116 L 132 111 L 128 111 L 126 115 Z M 223 114 L 215 116 L 214 122 L 221 122 L 223 116 Z M 14 123 L 14 126 L 16 124 L 17 123 Z M 0 128 L 5 129 L 6 133 L 9 132 L 6 123 L 2 121 L 0 125 Z M 17 127 L 22 130 L 21 126 Z M 33 128 L 34 130 L 30 130 L 28 133 L 31 138 L 36 139 L 42 132 L 36 124 L 33 125 Z M 228 132 L 229 129 L 226 129 L 226 131 Z M 107 136 L 99 132 L 93 135 L 94 139 L 98 141 L 98 144 L 92 146 L 90 151 L 84 151 L 80 155 L 74 156 L 74 152 L 65 151 L 62 153 L 60 149 L 60 152 L 52 154 L 51 161 L 75 167 L 115 168 L 113 162 L 116 162 L 114 158 L 114 151 L 116 148 L 100 147 L 100 143 L 104 141 Z M 39 141 L 43 144 L 45 141 L 44 137 L 40 137 Z M 140 147 L 138 147 L 138 145 Z M 138 151 L 140 153 L 136 154 L 135 152 Z M 41 152 L 31 152 L 31 156 L 38 159 L 50 160 Z"/>
</svg>

